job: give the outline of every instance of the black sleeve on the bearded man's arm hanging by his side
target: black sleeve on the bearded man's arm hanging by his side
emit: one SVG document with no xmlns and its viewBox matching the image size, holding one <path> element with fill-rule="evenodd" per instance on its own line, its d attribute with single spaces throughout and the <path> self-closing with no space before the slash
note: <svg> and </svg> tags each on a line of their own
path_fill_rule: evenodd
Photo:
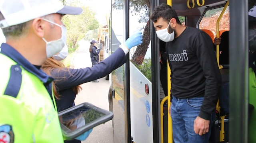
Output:
<svg viewBox="0 0 256 143">
<path fill-rule="evenodd" d="M 212 40 L 208 34 L 203 31 L 199 32 L 198 36 L 195 38 L 194 47 L 196 48 L 196 55 L 204 72 L 204 77 L 206 78 L 204 101 L 198 116 L 209 120 L 211 113 L 215 112 L 220 93 L 220 70 L 218 68 Z"/>
</svg>

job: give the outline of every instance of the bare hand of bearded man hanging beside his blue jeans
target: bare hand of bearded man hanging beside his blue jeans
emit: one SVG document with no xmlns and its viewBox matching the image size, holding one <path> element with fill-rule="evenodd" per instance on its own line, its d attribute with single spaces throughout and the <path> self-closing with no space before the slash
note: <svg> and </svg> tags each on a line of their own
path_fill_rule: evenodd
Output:
<svg viewBox="0 0 256 143">
<path fill-rule="evenodd" d="M 210 125 L 210 120 L 206 120 L 197 116 L 194 121 L 194 131 L 196 134 L 199 134 L 199 135 L 206 134 L 209 131 L 209 125 Z"/>
</svg>

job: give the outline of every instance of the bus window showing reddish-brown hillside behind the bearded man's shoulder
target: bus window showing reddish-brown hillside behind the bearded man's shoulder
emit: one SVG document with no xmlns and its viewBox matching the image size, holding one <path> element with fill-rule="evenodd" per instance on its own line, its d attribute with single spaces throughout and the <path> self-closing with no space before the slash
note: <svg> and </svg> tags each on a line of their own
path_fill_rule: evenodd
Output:
<svg viewBox="0 0 256 143">
<path fill-rule="evenodd" d="M 208 29 L 212 31 L 214 37 L 216 37 L 216 22 L 220 16 L 224 7 L 216 8 L 212 10 L 207 10 L 200 21 L 199 29 Z M 219 31 L 229 31 L 230 24 L 229 24 L 229 6 L 227 7 L 226 11 L 224 12 L 220 22 L 219 22 Z"/>
</svg>

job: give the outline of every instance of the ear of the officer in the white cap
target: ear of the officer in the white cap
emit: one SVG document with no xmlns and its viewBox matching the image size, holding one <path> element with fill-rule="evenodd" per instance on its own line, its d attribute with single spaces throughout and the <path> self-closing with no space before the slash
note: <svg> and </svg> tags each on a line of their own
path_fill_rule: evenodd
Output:
<svg viewBox="0 0 256 143">
<path fill-rule="evenodd" d="M 31 24 L 32 30 L 34 31 L 34 33 L 42 38 L 44 37 L 44 30 L 46 28 L 46 25 L 44 24 L 44 22 L 42 22 L 42 18 L 36 18 L 32 21 Z"/>
</svg>

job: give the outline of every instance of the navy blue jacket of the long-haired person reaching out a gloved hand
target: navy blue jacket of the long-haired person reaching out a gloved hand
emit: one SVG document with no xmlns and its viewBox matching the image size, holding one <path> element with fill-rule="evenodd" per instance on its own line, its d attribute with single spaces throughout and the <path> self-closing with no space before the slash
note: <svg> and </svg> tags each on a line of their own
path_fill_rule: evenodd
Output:
<svg viewBox="0 0 256 143">
<path fill-rule="evenodd" d="M 121 48 L 118 48 L 108 58 L 92 67 L 67 69 L 70 73 L 66 70 L 53 70 L 51 74 L 61 95 L 60 100 L 56 100 L 58 112 L 74 106 L 76 94 L 72 91 L 72 87 L 102 78 L 124 63 L 126 63 L 126 54 Z"/>
</svg>

